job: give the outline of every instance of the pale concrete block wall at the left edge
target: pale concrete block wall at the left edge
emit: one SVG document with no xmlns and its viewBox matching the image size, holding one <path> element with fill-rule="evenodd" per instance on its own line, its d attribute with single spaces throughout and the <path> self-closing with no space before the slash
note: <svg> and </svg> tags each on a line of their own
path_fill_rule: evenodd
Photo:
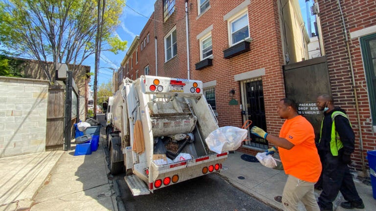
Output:
<svg viewBox="0 0 376 211">
<path fill-rule="evenodd" d="M 0 157 L 45 151 L 48 81 L 0 76 Z"/>
</svg>

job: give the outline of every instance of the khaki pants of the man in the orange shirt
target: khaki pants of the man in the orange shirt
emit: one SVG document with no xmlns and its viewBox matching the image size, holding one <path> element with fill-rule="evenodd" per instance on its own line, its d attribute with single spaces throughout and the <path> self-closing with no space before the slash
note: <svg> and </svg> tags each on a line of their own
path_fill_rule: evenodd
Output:
<svg viewBox="0 0 376 211">
<path fill-rule="evenodd" d="M 298 203 L 302 201 L 307 211 L 320 211 L 315 198 L 314 185 L 315 183 L 288 175 L 282 194 L 283 210 L 298 211 Z"/>
</svg>

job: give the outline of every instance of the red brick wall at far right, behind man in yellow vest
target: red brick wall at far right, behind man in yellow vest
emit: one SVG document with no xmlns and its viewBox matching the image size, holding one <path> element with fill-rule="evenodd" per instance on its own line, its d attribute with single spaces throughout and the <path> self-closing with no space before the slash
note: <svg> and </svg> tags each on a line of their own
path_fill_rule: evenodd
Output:
<svg viewBox="0 0 376 211">
<path fill-rule="evenodd" d="M 376 1 L 341 0 L 345 26 L 348 32 L 376 25 Z M 320 21 L 323 31 L 324 48 L 328 60 L 331 92 L 335 105 L 344 108 L 350 117 L 355 132 L 355 151 L 352 154 L 354 167 L 361 169 L 360 130 L 352 86 L 352 72 L 345 41 L 344 27 L 338 4 L 334 1 L 318 0 Z M 351 59 L 355 78 L 355 87 L 359 104 L 360 127 L 363 141 L 363 155 L 376 149 L 376 135 L 372 131 L 371 111 L 369 107 L 367 84 L 365 79 L 360 43 L 349 38 Z"/>
</svg>

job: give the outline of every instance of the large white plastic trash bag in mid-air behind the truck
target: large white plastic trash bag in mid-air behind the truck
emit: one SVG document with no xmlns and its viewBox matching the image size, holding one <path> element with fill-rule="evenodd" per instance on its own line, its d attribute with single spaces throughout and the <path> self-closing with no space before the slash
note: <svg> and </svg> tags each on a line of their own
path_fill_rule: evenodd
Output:
<svg viewBox="0 0 376 211">
<path fill-rule="evenodd" d="M 222 153 L 236 150 L 247 137 L 247 130 L 239 127 L 225 126 L 212 131 L 205 139 L 211 151 Z"/>
</svg>

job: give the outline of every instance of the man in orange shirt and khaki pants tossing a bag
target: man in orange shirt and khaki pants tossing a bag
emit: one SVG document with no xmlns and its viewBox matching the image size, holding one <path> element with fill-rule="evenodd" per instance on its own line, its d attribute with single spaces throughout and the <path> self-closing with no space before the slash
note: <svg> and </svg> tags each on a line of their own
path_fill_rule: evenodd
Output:
<svg viewBox="0 0 376 211">
<path fill-rule="evenodd" d="M 299 201 L 307 211 L 320 211 L 317 204 L 314 185 L 320 177 L 321 163 L 315 145 L 315 133 L 312 125 L 297 112 L 294 101 L 284 98 L 277 105 L 282 119 L 279 137 L 252 127 L 251 133 L 266 139 L 278 147 L 283 169 L 288 175 L 282 193 L 282 205 L 285 211 L 297 211 Z M 277 148 L 268 149 L 274 153 Z"/>
</svg>

